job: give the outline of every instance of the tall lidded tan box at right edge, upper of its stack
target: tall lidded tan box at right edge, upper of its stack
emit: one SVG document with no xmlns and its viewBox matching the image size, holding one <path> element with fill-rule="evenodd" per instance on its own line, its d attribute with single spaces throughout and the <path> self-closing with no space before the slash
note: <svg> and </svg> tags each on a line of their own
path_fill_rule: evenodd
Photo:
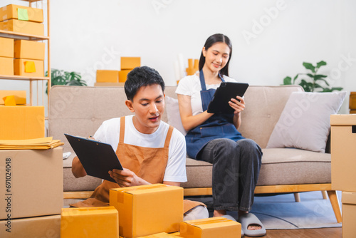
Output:
<svg viewBox="0 0 356 238">
<path fill-rule="evenodd" d="M 356 192 L 356 115 L 330 115 L 331 188 Z"/>
</svg>

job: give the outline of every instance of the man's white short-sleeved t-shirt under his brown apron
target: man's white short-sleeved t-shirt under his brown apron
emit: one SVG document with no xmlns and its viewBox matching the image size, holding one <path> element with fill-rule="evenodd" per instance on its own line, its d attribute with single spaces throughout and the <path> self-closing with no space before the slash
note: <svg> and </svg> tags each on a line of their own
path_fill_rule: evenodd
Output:
<svg viewBox="0 0 356 238">
<path fill-rule="evenodd" d="M 125 117 L 124 143 L 146 148 L 163 148 L 169 125 L 161 121 L 158 129 L 152 134 L 143 134 L 136 130 L 132 122 L 133 115 Z M 108 143 L 116 151 L 120 139 L 120 118 L 105 120 L 94 135 L 95 140 Z M 169 142 L 169 152 L 163 181 L 187 182 L 185 160 L 187 149 L 182 133 L 174 128 Z M 119 158 L 120 160 L 120 158 Z"/>
</svg>

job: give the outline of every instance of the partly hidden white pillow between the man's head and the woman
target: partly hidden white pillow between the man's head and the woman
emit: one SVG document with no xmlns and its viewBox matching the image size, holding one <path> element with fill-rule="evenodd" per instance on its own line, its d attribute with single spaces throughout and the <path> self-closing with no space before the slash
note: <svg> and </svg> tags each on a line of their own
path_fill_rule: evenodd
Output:
<svg viewBox="0 0 356 238">
<path fill-rule="evenodd" d="M 164 100 L 166 102 L 167 123 L 179 130 L 183 135 L 187 135 L 187 132 L 183 128 L 182 120 L 180 119 L 178 99 L 166 96 Z"/>
</svg>

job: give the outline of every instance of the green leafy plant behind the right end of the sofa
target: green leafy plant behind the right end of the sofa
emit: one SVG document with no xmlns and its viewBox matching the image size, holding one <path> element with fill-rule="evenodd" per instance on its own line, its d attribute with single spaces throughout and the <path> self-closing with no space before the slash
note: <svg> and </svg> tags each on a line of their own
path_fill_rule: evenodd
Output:
<svg viewBox="0 0 356 238">
<path fill-rule="evenodd" d="M 303 66 L 308 73 L 298 73 L 292 81 L 292 78 L 287 76 L 286 78 L 283 79 L 283 85 L 292 85 L 292 84 L 297 84 L 296 81 L 300 76 L 301 78 L 300 82 L 298 83 L 300 86 L 304 88 L 305 92 L 333 92 L 333 90 L 342 90 L 342 88 L 337 87 L 337 88 L 330 88 L 330 87 L 323 87 L 319 84 L 319 82 L 324 82 L 327 86 L 330 86 L 328 81 L 325 80 L 326 77 L 323 74 L 318 74 L 318 70 L 321 66 L 326 66 L 325 61 L 320 61 L 316 63 L 316 66 L 313 66 L 311 63 L 303 62 Z M 304 76 L 308 76 L 308 78 L 304 78 Z"/>
</svg>

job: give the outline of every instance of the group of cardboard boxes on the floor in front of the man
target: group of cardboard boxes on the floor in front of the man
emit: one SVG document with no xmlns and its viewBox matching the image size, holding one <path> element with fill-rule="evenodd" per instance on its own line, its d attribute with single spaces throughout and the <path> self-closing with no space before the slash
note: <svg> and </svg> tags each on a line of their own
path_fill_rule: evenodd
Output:
<svg viewBox="0 0 356 238">
<path fill-rule="evenodd" d="M 229 219 L 183 222 L 183 196 L 164 184 L 112 189 L 110 207 L 63 208 L 61 237 L 240 237 L 241 224 Z"/>
</svg>

